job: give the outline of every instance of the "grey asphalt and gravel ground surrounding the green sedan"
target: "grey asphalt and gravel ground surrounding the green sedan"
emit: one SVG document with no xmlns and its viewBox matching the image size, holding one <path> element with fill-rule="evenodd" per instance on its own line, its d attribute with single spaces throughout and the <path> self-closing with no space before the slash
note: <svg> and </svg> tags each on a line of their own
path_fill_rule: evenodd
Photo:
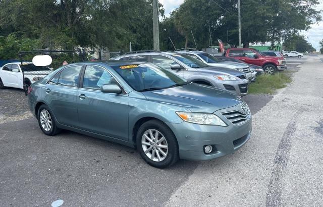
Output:
<svg viewBox="0 0 323 207">
<path fill-rule="evenodd" d="M 70 131 L 46 136 L 28 112 L 24 92 L 0 90 L 0 203 L 321 205 L 319 58 L 288 58 L 288 70 L 297 71 L 290 86 L 274 96 L 244 97 L 253 133 L 241 150 L 207 162 L 180 161 L 164 170 L 148 166 L 125 146 Z"/>
</svg>

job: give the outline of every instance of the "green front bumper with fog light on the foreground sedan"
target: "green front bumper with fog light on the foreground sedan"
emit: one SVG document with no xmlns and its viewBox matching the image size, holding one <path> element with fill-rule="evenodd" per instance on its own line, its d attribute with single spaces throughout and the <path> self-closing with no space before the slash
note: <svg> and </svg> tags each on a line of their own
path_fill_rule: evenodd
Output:
<svg viewBox="0 0 323 207">
<path fill-rule="evenodd" d="M 227 111 L 230 110 L 232 109 L 227 109 Z M 251 114 L 249 120 L 241 125 L 232 124 L 220 112 L 214 114 L 221 117 L 228 126 L 200 125 L 188 122 L 168 123 L 177 138 L 180 159 L 199 161 L 222 157 L 237 151 L 250 139 Z M 205 145 L 213 147 L 211 153 L 204 153 L 203 147 Z"/>
</svg>

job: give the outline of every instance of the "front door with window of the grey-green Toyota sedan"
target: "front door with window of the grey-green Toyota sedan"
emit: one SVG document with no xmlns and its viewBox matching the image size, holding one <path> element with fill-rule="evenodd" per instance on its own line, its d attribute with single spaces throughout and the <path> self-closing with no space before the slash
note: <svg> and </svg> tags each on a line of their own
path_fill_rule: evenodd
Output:
<svg viewBox="0 0 323 207">
<path fill-rule="evenodd" d="M 119 85 L 105 68 L 87 65 L 77 93 L 80 129 L 128 141 L 129 96 L 102 93 L 105 84 Z"/>
</svg>

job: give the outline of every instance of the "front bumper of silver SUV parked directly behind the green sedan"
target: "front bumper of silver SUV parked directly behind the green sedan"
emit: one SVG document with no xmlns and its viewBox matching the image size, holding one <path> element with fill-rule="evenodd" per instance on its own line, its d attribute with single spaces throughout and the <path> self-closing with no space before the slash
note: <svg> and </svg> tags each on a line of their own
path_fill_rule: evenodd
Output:
<svg viewBox="0 0 323 207">
<path fill-rule="evenodd" d="M 248 79 L 242 79 L 237 81 L 217 81 L 214 87 L 227 90 L 231 93 L 235 93 L 238 96 L 245 96 L 248 94 Z"/>
</svg>

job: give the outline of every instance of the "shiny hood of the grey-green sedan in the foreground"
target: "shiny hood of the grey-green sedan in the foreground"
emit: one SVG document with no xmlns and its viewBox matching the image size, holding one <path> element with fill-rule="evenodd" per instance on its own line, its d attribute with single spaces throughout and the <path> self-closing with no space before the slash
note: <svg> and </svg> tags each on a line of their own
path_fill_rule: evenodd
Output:
<svg viewBox="0 0 323 207">
<path fill-rule="evenodd" d="M 142 94 L 150 101 L 185 107 L 192 112 L 213 113 L 242 102 L 241 97 L 233 93 L 194 83 Z"/>
</svg>

